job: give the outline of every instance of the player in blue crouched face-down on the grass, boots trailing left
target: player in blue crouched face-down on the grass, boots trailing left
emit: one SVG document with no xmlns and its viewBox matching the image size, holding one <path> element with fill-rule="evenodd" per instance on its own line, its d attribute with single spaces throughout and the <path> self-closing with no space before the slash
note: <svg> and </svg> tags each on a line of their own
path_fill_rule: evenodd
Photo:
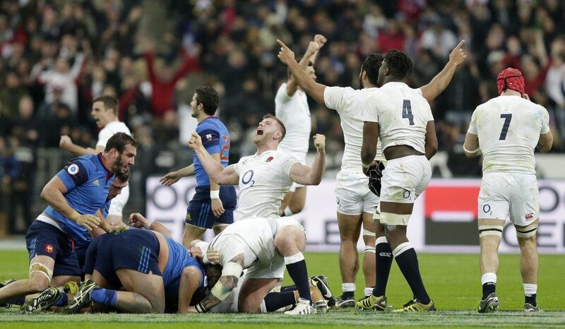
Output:
<svg viewBox="0 0 565 329">
<path fill-rule="evenodd" d="M 191 299 L 206 289 L 203 265 L 170 236 L 150 230 L 160 223 L 150 223 L 140 214 L 130 219 L 147 229 L 132 228 L 95 239 L 87 251 L 85 282 L 68 304 L 66 294 L 53 290 L 52 299 L 57 299 L 53 304 L 67 304 L 64 311 L 69 313 L 92 304 L 89 311 L 110 306 L 127 313 L 186 312 Z"/>
</svg>

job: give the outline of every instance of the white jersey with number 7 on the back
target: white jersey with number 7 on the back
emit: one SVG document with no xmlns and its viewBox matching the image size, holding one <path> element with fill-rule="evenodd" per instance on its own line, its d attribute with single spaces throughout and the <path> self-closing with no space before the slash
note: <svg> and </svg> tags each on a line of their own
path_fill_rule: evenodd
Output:
<svg viewBox="0 0 565 329">
<path fill-rule="evenodd" d="M 520 96 L 499 96 L 475 109 L 468 132 L 479 136 L 483 172 L 535 174 L 534 149 L 549 132 L 549 114 Z"/>
</svg>

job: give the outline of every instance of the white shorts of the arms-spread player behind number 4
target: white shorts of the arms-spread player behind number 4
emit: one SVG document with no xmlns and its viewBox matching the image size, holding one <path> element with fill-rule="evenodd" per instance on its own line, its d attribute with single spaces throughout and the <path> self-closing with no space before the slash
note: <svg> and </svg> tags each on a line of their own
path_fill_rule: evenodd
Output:
<svg viewBox="0 0 565 329">
<path fill-rule="evenodd" d="M 379 197 L 369 190 L 369 177 L 362 172 L 339 172 L 335 182 L 335 203 L 343 215 L 374 214 Z"/>
</svg>

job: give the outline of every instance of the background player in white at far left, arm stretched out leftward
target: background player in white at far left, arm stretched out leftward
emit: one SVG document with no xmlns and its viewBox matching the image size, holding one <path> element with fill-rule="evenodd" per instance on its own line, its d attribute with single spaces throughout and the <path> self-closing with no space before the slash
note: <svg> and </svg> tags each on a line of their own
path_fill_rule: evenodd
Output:
<svg viewBox="0 0 565 329">
<path fill-rule="evenodd" d="M 106 148 L 106 143 L 109 138 L 114 136 L 114 133 L 127 133 L 131 136 L 129 128 L 118 119 L 118 100 L 114 97 L 102 95 L 93 100 L 93 110 L 90 114 L 96 121 L 98 128 L 102 128 L 98 133 L 98 141 L 96 148 L 82 148 L 81 146 L 73 143 L 69 136 L 61 136 L 59 140 L 59 147 L 63 150 L 68 150 L 75 155 L 98 154 Z M 124 206 L 129 199 L 129 186 L 124 187 L 121 193 L 112 200 L 110 204 L 108 217 L 106 218 L 111 224 L 121 222 L 122 212 Z"/>
</svg>

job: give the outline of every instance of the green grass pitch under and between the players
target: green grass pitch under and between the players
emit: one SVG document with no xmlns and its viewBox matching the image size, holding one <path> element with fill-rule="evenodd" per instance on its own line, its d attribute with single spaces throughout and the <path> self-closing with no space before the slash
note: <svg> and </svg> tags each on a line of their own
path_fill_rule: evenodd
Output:
<svg viewBox="0 0 565 329">
<path fill-rule="evenodd" d="M 328 277 L 333 292 L 340 293 L 341 281 L 336 253 L 307 253 L 309 275 L 323 274 Z M 479 315 L 475 309 L 481 294 L 480 271 L 477 255 L 421 254 L 420 270 L 430 297 L 439 311 L 435 313 L 374 313 L 355 309 L 331 310 L 325 315 L 290 318 L 280 313 L 271 314 L 198 314 L 178 315 L 130 315 L 130 314 L 82 314 L 21 315 L 16 308 L 0 309 L 0 328 L 61 328 L 63 323 L 78 324 L 81 328 L 100 328 L 100 325 L 119 323 L 120 328 L 179 328 L 186 326 L 206 329 L 223 328 L 326 328 L 348 325 L 386 325 L 396 327 L 565 327 L 563 299 L 563 256 L 540 256 L 540 280 L 537 300 L 544 312 L 524 314 L 521 311 L 524 297 L 519 271 L 518 255 L 501 255 L 496 292 L 501 301 L 501 311 L 492 315 Z M 25 251 L 0 251 L 0 280 L 22 278 L 27 275 Z M 285 284 L 290 280 L 285 280 Z M 357 277 L 357 299 L 362 297 L 364 281 Z M 412 296 L 398 267 L 393 265 L 387 288 L 388 304 L 402 306 Z M 46 325 L 49 322 L 49 325 Z"/>
</svg>

